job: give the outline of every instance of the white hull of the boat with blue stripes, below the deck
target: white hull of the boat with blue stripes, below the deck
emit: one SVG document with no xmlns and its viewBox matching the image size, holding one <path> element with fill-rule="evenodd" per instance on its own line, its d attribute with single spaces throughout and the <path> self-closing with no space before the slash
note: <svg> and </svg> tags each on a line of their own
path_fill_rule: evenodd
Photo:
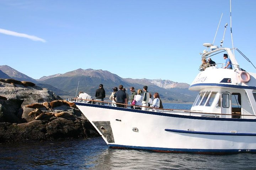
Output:
<svg viewBox="0 0 256 170">
<path fill-rule="evenodd" d="M 256 152 L 255 119 L 75 104 L 110 147 L 166 152 Z"/>
</svg>

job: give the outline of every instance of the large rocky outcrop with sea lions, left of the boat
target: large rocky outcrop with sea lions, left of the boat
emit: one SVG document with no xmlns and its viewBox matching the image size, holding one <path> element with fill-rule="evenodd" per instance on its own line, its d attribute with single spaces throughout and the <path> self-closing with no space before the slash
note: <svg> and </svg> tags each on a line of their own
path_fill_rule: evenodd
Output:
<svg viewBox="0 0 256 170">
<path fill-rule="evenodd" d="M 0 82 L 0 96 L 0 142 L 99 136 L 74 103 L 52 91 Z M 61 104 L 49 108 L 50 102 Z"/>
</svg>

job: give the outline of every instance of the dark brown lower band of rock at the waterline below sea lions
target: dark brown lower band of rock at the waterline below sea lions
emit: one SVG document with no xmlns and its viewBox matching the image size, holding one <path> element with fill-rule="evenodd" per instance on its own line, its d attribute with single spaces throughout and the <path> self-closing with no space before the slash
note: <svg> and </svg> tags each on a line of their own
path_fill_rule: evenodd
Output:
<svg viewBox="0 0 256 170">
<path fill-rule="evenodd" d="M 35 120 L 30 123 L 0 123 L 0 142 L 26 140 L 55 140 L 60 138 L 96 137 L 99 134 L 85 120 L 67 120 L 64 118 L 52 121 Z"/>
</svg>

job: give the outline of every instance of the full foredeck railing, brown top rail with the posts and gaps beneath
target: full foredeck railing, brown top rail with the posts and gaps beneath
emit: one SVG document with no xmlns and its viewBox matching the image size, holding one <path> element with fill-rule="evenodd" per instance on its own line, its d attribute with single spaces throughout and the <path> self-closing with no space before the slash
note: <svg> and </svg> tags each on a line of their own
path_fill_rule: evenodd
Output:
<svg viewBox="0 0 256 170">
<path fill-rule="evenodd" d="M 152 112 L 161 112 L 161 113 L 169 113 L 170 111 L 172 111 L 172 113 L 177 113 L 177 114 L 181 114 L 181 113 L 185 113 L 186 115 L 195 115 L 198 114 L 201 117 L 214 117 L 214 118 L 219 118 L 221 115 L 229 115 L 229 116 L 253 116 L 256 117 L 255 115 L 249 115 L 249 114 L 224 114 L 224 113 L 207 113 L 207 112 L 202 112 L 202 111 L 191 111 L 191 110 L 186 110 L 186 109 L 164 109 L 164 108 L 154 108 L 154 107 L 148 107 L 148 106 L 137 106 L 137 105 L 132 105 L 132 104 L 122 104 L 122 103 L 113 103 L 113 102 L 106 102 L 106 101 L 96 101 L 96 100 L 86 100 L 86 99 L 79 99 L 79 98 L 74 98 L 76 102 L 81 102 L 81 103 L 89 103 L 89 104 L 96 104 L 96 102 L 102 102 L 104 103 L 104 105 L 106 104 L 106 106 L 112 106 L 112 104 L 120 104 L 123 105 L 124 108 L 129 107 L 133 107 L 133 108 L 128 108 L 128 109 L 135 109 L 134 106 L 136 107 L 144 107 L 144 108 L 149 108 L 149 111 Z M 211 116 L 212 115 L 212 116 Z"/>
</svg>

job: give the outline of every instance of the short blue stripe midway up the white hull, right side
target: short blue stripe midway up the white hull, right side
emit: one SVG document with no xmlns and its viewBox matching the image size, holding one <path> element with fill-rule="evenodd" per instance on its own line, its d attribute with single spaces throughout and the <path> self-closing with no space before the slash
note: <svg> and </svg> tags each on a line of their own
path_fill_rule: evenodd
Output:
<svg viewBox="0 0 256 170">
<path fill-rule="evenodd" d="M 185 133 L 185 134 L 201 134 L 201 135 L 226 135 L 226 136 L 256 136 L 254 133 L 227 133 L 227 132 L 200 132 L 177 129 L 165 129 L 169 132 Z"/>
</svg>

